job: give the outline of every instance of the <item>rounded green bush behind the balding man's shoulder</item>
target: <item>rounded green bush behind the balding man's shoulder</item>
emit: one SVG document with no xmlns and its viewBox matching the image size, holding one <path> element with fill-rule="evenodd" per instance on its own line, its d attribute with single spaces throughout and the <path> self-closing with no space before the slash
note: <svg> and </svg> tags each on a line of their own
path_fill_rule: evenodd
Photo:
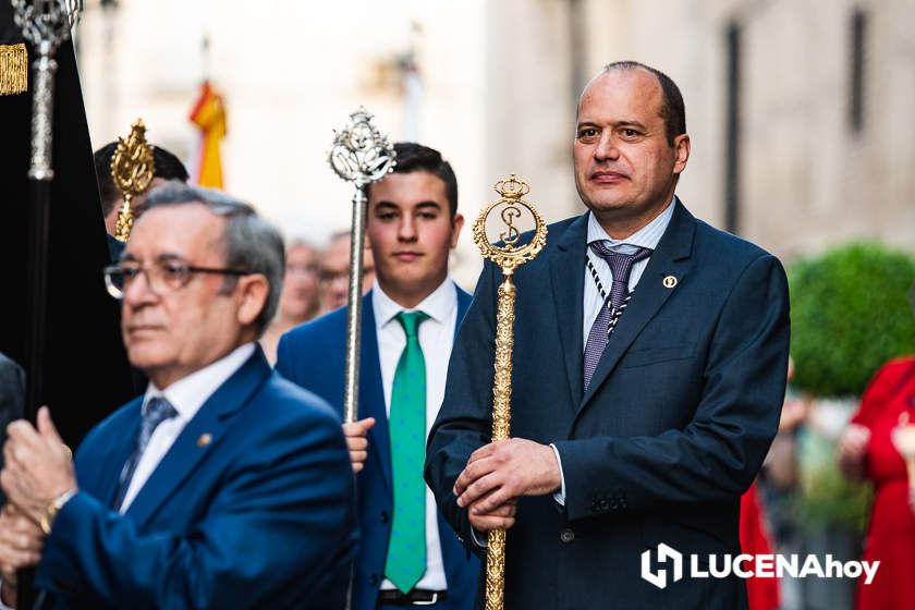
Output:
<svg viewBox="0 0 915 610">
<path fill-rule="evenodd" d="M 915 259 L 876 243 L 793 265 L 793 385 L 818 396 L 857 396 L 883 363 L 915 353 L 913 283 Z"/>
</svg>

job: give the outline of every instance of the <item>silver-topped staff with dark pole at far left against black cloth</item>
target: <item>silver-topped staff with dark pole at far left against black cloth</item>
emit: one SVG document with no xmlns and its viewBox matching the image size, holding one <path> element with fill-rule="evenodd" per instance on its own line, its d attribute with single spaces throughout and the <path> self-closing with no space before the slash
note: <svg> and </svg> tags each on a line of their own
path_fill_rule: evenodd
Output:
<svg viewBox="0 0 915 610">
<path fill-rule="evenodd" d="M 11 0 L 13 17 L 22 28 L 38 58 L 32 64 L 35 71 L 32 91 L 32 161 L 28 170 L 28 302 L 30 315 L 25 364 L 25 417 L 35 422 L 38 405 L 44 403 L 45 344 L 48 293 L 48 220 L 51 210 L 51 144 L 54 113 L 53 57 L 58 48 L 70 38 L 71 29 L 80 19 L 83 0 Z M 19 608 L 35 606 L 32 586 L 34 570 L 19 574 Z"/>
</svg>

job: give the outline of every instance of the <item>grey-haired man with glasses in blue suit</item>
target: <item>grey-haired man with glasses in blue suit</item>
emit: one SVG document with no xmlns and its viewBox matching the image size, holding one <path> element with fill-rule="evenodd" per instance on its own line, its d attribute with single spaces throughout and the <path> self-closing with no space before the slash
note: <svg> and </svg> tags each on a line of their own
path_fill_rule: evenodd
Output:
<svg viewBox="0 0 915 610">
<path fill-rule="evenodd" d="M 343 607 L 356 523 L 340 419 L 256 343 L 282 269 L 279 233 L 246 204 L 176 183 L 150 194 L 106 269 L 149 387 L 73 463 L 47 407 L 37 429 L 10 425 L 4 602 L 40 552 L 58 608 Z"/>
</svg>

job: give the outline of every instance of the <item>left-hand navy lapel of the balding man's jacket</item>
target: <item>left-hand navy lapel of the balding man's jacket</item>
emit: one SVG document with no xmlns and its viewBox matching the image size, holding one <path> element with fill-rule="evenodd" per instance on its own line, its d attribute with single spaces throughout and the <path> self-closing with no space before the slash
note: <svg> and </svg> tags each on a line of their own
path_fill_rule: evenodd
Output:
<svg viewBox="0 0 915 610">
<path fill-rule="evenodd" d="M 582 399 L 582 325 L 587 227 L 587 213 L 572 221 L 550 258 L 550 280 L 557 319 L 548 320 L 548 324 L 556 324 L 559 328 L 571 404 L 578 404 Z"/>
</svg>

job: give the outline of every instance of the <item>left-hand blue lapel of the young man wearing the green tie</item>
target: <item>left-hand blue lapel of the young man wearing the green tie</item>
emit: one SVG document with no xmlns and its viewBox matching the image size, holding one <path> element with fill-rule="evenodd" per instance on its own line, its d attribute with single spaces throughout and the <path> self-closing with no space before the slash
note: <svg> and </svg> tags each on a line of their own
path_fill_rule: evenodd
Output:
<svg viewBox="0 0 915 610">
<path fill-rule="evenodd" d="M 359 358 L 359 418 L 375 417 L 368 430 L 369 455 L 379 461 L 385 484 L 391 489 L 391 437 L 388 432 L 388 407 L 381 385 L 381 361 L 378 357 L 378 331 L 375 327 L 375 308 L 371 293 L 363 300 L 362 347 Z"/>
</svg>

